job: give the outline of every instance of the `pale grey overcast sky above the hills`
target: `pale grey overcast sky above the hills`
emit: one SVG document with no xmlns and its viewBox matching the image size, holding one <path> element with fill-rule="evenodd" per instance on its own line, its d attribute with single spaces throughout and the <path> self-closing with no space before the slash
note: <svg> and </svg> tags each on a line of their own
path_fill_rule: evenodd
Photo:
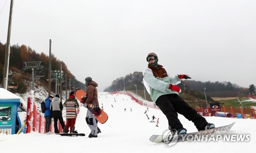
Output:
<svg viewBox="0 0 256 153">
<path fill-rule="evenodd" d="M 10 1 L 0 0 L 2 43 Z M 14 1 L 11 45 L 49 54 L 49 39 L 52 54 L 79 81 L 91 76 L 98 91 L 142 72 L 150 52 L 172 76 L 256 85 L 254 0 Z"/>
</svg>

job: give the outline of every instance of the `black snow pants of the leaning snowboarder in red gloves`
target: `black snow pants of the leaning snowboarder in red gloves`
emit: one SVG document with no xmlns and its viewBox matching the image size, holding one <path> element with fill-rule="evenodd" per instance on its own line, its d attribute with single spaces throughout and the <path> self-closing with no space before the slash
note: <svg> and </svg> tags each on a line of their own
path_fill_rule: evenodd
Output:
<svg viewBox="0 0 256 153">
<path fill-rule="evenodd" d="M 189 121 L 192 121 L 198 130 L 203 130 L 204 126 L 208 123 L 204 117 L 197 114 L 197 112 L 177 94 L 162 95 L 157 99 L 156 104 L 166 116 L 171 129 L 183 127 L 178 119 L 178 113 Z"/>
</svg>

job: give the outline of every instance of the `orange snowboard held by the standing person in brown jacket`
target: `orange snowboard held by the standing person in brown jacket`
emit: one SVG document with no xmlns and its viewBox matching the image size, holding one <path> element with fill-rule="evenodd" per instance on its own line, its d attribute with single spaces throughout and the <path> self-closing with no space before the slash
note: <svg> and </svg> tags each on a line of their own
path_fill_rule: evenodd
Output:
<svg viewBox="0 0 256 153">
<path fill-rule="evenodd" d="M 75 92 L 75 97 L 79 100 L 79 101 L 82 101 L 82 98 L 86 97 L 86 92 L 84 92 L 83 90 L 81 89 L 78 89 L 76 90 Z M 90 112 L 93 113 L 93 108 L 95 107 L 95 103 L 93 101 L 91 101 L 88 105 L 87 105 L 87 108 Z M 94 114 L 94 113 L 93 113 Z M 99 108 L 99 113 L 96 115 L 94 114 L 94 117 L 101 123 L 101 124 L 104 124 L 109 116 L 108 114 L 106 114 L 101 108 Z"/>
</svg>

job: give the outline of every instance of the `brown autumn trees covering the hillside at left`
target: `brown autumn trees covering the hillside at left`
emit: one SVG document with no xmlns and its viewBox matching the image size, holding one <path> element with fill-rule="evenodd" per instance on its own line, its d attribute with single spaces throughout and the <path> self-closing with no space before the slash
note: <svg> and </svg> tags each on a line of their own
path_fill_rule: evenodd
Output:
<svg viewBox="0 0 256 153">
<path fill-rule="evenodd" d="M 0 84 L 2 84 L 2 81 L 3 81 L 5 50 L 6 50 L 6 45 L 3 45 L 0 42 Z M 65 62 L 57 59 L 56 56 L 53 54 L 51 59 L 52 59 L 52 70 L 60 70 L 60 65 L 62 65 L 62 71 L 65 75 L 67 74 L 67 76 L 71 78 L 73 81 L 75 81 L 76 84 L 83 84 L 82 82 L 78 81 L 75 78 L 75 76 L 68 70 L 68 67 L 65 64 Z M 43 68 L 40 70 L 35 70 L 35 75 L 39 72 L 41 74 L 44 74 L 45 77 L 41 77 L 40 82 L 45 82 L 45 84 L 47 85 L 48 83 L 46 82 L 46 80 L 49 75 L 49 56 L 46 55 L 45 53 L 38 54 L 35 50 L 33 50 L 30 47 L 27 47 L 26 45 L 10 46 L 10 57 L 9 57 L 10 71 L 13 71 L 13 72 L 19 71 L 19 73 L 26 73 L 26 75 L 23 74 L 20 76 L 22 77 L 22 76 L 29 75 L 31 78 L 31 71 L 23 71 L 23 67 L 25 66 L 24 62 L 31 62 L 31 61 L 41 61 L 40 65 L 43 66 Z M 20 79 L 20 77 L 18 76 L 15 76 L 15 77 L 10 76 L 10 78 L 12 79 L 11 81 L 16 81 L 16 82 L 18 82 L 18 79 Z"/>
</svg>

